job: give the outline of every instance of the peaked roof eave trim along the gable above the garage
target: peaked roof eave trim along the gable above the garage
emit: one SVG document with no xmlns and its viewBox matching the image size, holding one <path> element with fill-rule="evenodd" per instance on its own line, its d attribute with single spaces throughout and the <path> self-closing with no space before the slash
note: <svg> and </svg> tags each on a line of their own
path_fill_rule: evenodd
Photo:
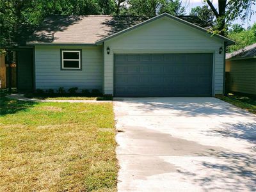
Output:
<svg viewBox="0 0 256 192">
<path fill-rule="evenodd" d="M 115 36 L 118 36 L 118 35 L 122 35 L 123 33 L 126 33 L 128 31 L 136 29 L 136 28 L 138 28 L 140 26 L 143 26 L 144 24 L 147 24 L 147 23 L 152 22 L 154 20 L 160 19 L 162 17 L 169 17 L 171 19 L 174 19 L 174 20 L 177 20 L 177 21 L 182 22 L 184 24 L 187 24 L 188 26 L 191 26 L 193 28 L 199 29 L 200 31 L 204 31 L 205 33 L 209 33 L 209 35 L 214 35 L 214 34 L 211 33 L 211 31 L 209 31 L 207 29 L 204 29 L 204 28 L 201 28 L 200 26 L 196 26 L 195 24 L 192 24 L 191 22 L 188 22 L 186 20 L 180 19 L 179 17 L 175 17 L 173 15 L 170 15 L 169 13 L 162 13 L 161 15 L 157 15 L 156 17 L 152 17 L 151 19 L 145 20 L 145 21 L 141 22 L 140 24 L 136 24 L 135 26 L 132 26 L 130 28 L 127 28 L 127 29 L 124 29 L 122 31 L 119 31 L 118 33 L 115 33 L 113 35 L 106 36 L 105 38 L 102 38 L 102 39 L 98 40 L 97 42 L 95 42 L 95 44 L 96 45 L 100 45 L 103 42 L 105 42 L 106 40 L 114 38 Z M 227 38 L 227 37 L 222 36 L 222 35 L 217 35 L 216 34 L 214 36 L 220 38 L 221 40 L 224 40 L 224 42 L 227 42 L 227 45 L 234 45 L 236 43 L 233 40 L 231 40 L 230 38 Z"/>
</svg>

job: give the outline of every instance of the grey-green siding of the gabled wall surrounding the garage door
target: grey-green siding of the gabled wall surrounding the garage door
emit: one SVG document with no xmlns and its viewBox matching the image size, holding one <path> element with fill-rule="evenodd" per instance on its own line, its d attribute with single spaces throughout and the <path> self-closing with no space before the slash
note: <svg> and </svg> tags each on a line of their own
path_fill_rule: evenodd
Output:
<svg viewBox="0 0 256 192">
<path fill-rule="evenodd" d="M 213 94 L 223 93 L 223 40 L 163 17 L 104 43 L 104 93 L 113 94 L 114 54 L 211 52 L 214 62 Z M 106 49 L 110 48 L 110 54 Z M 223 48 L 224 49 L 224 48 Z"/>
</svg>

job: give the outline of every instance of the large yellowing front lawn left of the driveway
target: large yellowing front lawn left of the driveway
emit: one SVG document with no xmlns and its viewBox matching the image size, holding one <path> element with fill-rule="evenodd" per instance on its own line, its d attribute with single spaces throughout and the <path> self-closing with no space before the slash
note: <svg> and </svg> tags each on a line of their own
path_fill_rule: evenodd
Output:
<svg viewBox="0 0 256 192">
<path fill-rule="evenodd" d="M 116 191 L 111 103 L 0 97 L 0 191 Z"/>
</svg>

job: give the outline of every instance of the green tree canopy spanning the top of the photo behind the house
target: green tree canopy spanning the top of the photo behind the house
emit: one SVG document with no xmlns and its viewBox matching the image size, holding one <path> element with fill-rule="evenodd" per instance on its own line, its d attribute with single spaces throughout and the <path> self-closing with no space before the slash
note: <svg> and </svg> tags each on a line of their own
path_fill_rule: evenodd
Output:
<svg viewBox="0 0 256 192">
<path fill-rule="evenodd" d="M 185 1 L 185 0 L 184 0 Z M 202 0 L 208 6 L 196 7 L 192 15 L 225 35 L 227 26 L 240 17 L 252 15 L 256 0 L 218 0 L 218 8 L 211 0 Z M 38 25 L 48 15 L 145 15 L 167 12 L 184 15 L 182 0 L 0 0 L 0 46 L 15 44 L 19 30 Z"/>
</svg>

